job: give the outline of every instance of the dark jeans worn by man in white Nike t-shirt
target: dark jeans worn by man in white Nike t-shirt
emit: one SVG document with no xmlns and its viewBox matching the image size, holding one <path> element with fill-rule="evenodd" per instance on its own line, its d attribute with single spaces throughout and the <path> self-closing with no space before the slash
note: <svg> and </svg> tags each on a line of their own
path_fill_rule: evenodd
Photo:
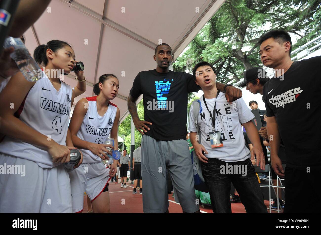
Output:
<svg viewBox="0 0 321 235">
<path fill-rule="evenodd" d="M 229 169 L 231 166 L 240 166 L 244 169 L 227 173 L 222 167 Z M 245 168 L 246 167 L 246 168 Z M 234 167 L 233 167 L 234 168 Z M 235 168 L 234 168 L 235 169 Z M 237 162 L 225 162 L 209 158 L 208 163 L 202 162 L 202 173 L 206 185 L 210 189 L 210 198 L 214 213 L 231 213 L 230 189 L 231 182 L 238 191 L 240 199 L 247 213 L 267 213 L 255 169 L 250 159 Z M 242 176 L 245 175 L 246 176 Z"/>
</svg>

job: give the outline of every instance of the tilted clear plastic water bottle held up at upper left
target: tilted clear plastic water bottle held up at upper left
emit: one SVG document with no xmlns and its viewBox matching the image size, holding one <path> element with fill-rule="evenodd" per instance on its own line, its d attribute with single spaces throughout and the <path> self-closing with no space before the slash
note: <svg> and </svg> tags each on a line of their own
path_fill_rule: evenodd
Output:
<svg viewBox="0 0 321 235">
<path fill-rule="evenodd" d="M 28 49 L 20 38 L 7 37 L 4 48 L 14 47 L 11 58 L 29 82 L 36 82 L 43 77 L 43 72 L 37 62 L 30 56 Z"/>
</svg>

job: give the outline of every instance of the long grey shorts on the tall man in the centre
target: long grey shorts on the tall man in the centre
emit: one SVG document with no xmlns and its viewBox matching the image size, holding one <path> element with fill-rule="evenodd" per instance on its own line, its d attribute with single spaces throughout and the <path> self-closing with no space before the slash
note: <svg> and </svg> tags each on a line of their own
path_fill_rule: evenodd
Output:
<svg viewBox="0 0 321 235">
<path fill-rule="evenodd" d="M 199 210 L 186 140 L 162 141 L 143 135 L 141 167 L 145 213 L 164 213 L 169 207 L 166 168 L 183 211 L 193 213 Z"/>
</svg>

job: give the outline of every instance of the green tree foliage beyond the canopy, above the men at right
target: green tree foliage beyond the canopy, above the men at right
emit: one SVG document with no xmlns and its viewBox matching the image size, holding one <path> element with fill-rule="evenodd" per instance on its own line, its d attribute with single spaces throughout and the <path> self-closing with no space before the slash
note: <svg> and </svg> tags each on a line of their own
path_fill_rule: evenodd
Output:
<svg viewBox="0 0 321 235">
<path fill-rule="evenodd" d="M 321 1 L 227 0 L 178 57 L 174 70 L 192 72 L 196 63 L 207 61 L 216 68 L 218 82 L 238 82 L 245 70 L 263 66 L 257 42 L 271 29 L 299 35 L 295 50 L 321 34 Z"/>
</svg>

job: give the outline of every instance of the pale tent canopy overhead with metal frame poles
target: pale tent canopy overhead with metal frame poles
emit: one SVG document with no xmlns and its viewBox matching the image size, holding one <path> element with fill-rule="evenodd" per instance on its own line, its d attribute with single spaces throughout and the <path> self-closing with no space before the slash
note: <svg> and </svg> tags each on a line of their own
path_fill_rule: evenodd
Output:
<svg viewBox="0 0 321 235">
<path fill-rule="evenodd" d="M 180 55 L 224 1 L 52 0 L 25 33 L 26 46 L 32 55 L 50 40 L 72 45 L 76 60 L 84 63 L 87 81 L 86 92 L 75 98 L 74 105 L 94 95 L 92 87 L 100 75 L 115 74 L 120 88 L 112 102 L 120 109 L 121 123 L 129 114 L 126 99 L 135 76 L 156 68 L 153 54 L 160 40 Z M 72 87 L 77 84 L 73 72 L 64 81 Z"/>
</svg>

